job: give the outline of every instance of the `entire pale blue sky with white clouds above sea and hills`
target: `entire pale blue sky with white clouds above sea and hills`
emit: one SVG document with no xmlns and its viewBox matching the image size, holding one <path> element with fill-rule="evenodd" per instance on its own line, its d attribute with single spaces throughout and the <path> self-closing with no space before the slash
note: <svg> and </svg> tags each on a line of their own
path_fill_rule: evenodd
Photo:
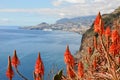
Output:
<svg viewBox="0 0 120 80">
<path fill-rule="evenodd" d="M 53 24 L 61 18 L 110 13 L 120 0 L 0 0 L 0 25 Z"/>
</svg>

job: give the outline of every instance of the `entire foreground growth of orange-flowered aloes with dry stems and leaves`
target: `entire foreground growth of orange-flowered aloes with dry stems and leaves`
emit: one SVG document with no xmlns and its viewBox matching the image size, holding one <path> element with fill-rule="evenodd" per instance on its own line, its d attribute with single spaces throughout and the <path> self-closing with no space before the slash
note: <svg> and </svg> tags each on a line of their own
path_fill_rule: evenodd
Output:
<svg viewBox="0 0 120 80">
<path fill-rule="evenodd" d="M 67 45 L 64 53 L 66 75 L 62 70 L 57 73 L 53 80 L 120 80 L 120 26 L 104 28 L 104 22 L 100 13 L 94 21 L 93 46 L 88 46 L 88 53 L 82 56 L 78 62 L 72 56 Z M 28 80 L 17 69 L 20 61 L 16 50 L 12 59 L 8 57 L 6 76 L 9 80 L 14 77 L 13 67 L 24 80 Z M 13 67 L 12 67 L 13 66 Z M 38 54 L 35 63 L 34 80 L 43 80 L 44 65 Z"/>
</svg>

